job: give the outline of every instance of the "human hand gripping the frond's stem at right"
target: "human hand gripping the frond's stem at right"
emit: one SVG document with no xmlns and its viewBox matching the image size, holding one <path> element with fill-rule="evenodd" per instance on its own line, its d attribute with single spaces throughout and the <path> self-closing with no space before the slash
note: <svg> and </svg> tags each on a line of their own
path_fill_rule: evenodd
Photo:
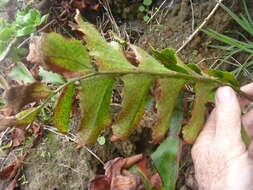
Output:
<svg viewBox="0 0 253 190">
<path fill-rule="evenodd" d="M 253 95 L 253 83 L 242 90 Z M 253 142 L 247 149 L 241 138 L 241 123 L 253 138 L 253 109 L 241 115 L 249 102 L 230 87 L 219 88 L 215 102 L 192 148 L 199 190 L 253 190 Z"/>
</svg>

